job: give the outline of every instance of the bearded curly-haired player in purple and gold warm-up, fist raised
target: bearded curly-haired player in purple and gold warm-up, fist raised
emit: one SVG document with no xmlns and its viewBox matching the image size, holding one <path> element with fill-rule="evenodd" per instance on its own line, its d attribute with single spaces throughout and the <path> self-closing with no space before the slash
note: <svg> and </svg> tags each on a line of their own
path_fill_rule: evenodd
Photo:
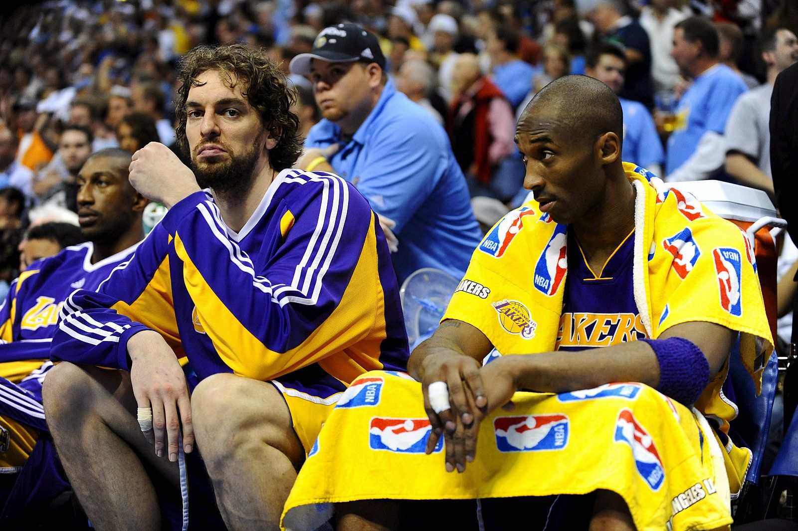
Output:
<svg viewBox="0 0 798 531">
<path fill-rule="evenodd" d="M 342 392 L 406 367 L 396 276 L 354 187 L 290 169 L 294 92 L 263 53 L 202 45 L 180 80 L 191 168 L 163 144 L 133 155 L 168 214 L 65 303 L 46 415 L 96 529 L 278 529 Z"/>
</svg>

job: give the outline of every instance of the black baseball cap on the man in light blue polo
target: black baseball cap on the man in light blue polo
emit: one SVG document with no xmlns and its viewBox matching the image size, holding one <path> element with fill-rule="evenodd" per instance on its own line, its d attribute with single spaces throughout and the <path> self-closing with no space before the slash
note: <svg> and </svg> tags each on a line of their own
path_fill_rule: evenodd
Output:
<svg viewBox="0 0 798 531">
<path fill-rule="evenodd" d="M 377 63 L 381 69 L 385 69 L 385 56 L 382 55 L 377 37 L 357 24 L 337 24 L 322 30 L 318 33 L 310 53 L 300 53 L 291 60 L 291 73 L 308 75 L 310 61 L 313 59 L 331 63 Z"/>
</svg>

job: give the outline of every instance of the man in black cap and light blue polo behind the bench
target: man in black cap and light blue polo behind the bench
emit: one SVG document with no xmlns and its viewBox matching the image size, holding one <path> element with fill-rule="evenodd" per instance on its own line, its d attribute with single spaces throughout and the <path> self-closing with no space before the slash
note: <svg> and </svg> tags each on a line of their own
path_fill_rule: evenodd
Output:
<svg viewBox="0 0 798 531">
<path fill-rule="evenodd" d="M 354 24 L 322 30 L 291 61 L 310 76 L 324 119 L 297 167 L 353 183 L 380 215 L 399 281 L 422 267 L 462 277 L 480 241 L 468 188 L 448 136 L 385 76 L 377 37 Z"/>
</svg>

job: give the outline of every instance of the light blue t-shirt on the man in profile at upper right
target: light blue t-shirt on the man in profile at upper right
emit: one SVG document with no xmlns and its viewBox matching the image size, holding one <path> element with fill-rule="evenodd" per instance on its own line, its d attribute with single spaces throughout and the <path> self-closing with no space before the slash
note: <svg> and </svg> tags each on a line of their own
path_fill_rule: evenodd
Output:
<svg viewBox="0 0 798 531">
<path fill-rule="evenodd" d="M 723 134 L 734 102 L 747 90 L 745 81 L 726 65 L 715 65 L 693 81 L 677 105 L 674 132 L 668 139 L 666 175 L 693 155 L 705 132 Z"/>
</svg>

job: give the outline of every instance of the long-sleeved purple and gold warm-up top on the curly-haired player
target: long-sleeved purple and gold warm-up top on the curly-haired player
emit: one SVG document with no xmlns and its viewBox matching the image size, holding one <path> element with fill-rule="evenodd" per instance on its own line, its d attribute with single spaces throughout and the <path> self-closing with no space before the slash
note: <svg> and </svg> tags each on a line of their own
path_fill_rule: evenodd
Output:
<svg viewBox="0 0 798 531">
<path fill-rule="evenodd" d="M 376 215 L 323 172 L 281 171 L 237 232 L 208 191 L 177 203 L 97 293 L 69 297 L 53 360 L 129 370 L 146 329 L 199 380 L 232 372 L 321 399 L 409 356 Z"/>
</svg>

